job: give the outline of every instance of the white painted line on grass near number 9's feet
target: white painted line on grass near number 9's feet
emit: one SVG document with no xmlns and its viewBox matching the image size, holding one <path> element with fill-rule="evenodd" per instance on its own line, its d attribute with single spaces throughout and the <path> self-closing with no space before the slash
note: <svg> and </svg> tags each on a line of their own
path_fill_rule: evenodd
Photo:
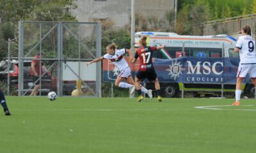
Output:
<svg viewBox="0 0 256 153">
<path fill-rule="evenodd" d="M 232 105 L 216 105 L 216 106 L 195 106 L 195 108 L 198 108 L 198 109 L 205 109 L 205 110 L 240 110 L 240 111 L 256 111 L 253 110 L 253 109 L 242 109 L 242 108 L 239 108 L 239 109 L 230 109 L 230 108 L 220 108 L 220 107 L 227 107 L 227 106 L 232 106 Z M 256 106 L 256 105 L 241 105 L 241 106 Z M 241 106 L 232 106 L 234 108 L 237 108 L 237 107 L 241 107 Z M 216 108 L 217 107 L 217 108 Z"/>
</svg>

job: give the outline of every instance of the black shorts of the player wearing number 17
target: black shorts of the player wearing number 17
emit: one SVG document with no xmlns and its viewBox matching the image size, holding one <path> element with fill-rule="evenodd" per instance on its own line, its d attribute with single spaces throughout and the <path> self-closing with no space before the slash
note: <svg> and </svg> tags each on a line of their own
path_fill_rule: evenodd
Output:
<svg viewBox="0 0 256 153">
<path fill-rule="evenodd" d="M 145 80 L 145 78 L 147 78 L 148 81 L 152 82 L 152 81 L 156 80 L 157 75 L 156 75 L 156 71 L 154 68 L 147 69 L 147 71 L 140 71 L 140 69 L 139 69 L 139 71 L 136 74 L 136 77 L 140 81 L 143 81 L 143 80 Z"/>
</svg>

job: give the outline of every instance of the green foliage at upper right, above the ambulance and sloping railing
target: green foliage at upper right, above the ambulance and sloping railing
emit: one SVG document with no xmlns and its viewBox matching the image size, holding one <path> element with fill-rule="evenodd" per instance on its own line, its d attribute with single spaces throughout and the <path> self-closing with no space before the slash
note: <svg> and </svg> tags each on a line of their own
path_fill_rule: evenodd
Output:
<svg viewBox="0 0 256 153">
<path fill-rule="evenodd" d="M 207 21 L 251 13 L 256 13 L 255 0 L 180 0 L 176 33 L 202 35 Z"/>
</svg>

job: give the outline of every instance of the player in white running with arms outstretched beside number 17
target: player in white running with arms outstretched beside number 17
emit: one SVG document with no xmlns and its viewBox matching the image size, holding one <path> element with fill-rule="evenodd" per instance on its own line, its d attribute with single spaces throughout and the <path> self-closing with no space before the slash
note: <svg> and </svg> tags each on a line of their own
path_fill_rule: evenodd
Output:
<svg viewBox="0 0 256 153">
<path fill-rule="evenodd" d="M 88 65 L 92 64 L 93 62 L 102 61 L 103 59 L 109 59 L 109 61 L 113 62 L 113 64 L 115 64 L 115 66 L 120 70 L 120 75 L 118 75 L 116 78 L 115 86 L 127 89 L 129 88 L 130 94 L 133 94 L 135 90 L 134 80 L 131 76 L 131 69 L 123 57 L 124 54 L 128 53 L 130 60 L 132 61 L 131 50 L 125 48 L 117 50 L 115 43 L 108 45 L 106 50 L 108 52 L 107 54 L 94 59 L 93 61 L 89 62 Z M 124 80 L 126 80 L 127 83 L 125 83 Z M 147 93 L 148 97 L 152 99 L 152 90 L 147 90 L 145 87 L 141 86 L 141 91 Z"/>
</svg>

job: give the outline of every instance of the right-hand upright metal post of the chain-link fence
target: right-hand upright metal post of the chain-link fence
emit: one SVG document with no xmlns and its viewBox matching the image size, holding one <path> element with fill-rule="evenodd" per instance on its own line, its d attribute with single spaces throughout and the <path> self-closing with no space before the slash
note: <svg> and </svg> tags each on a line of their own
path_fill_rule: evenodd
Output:
<svg viewBox="0 0 256 153">
<path fill-rule="evenodd" d="M 97 48 L 97 52 L 96 52 L 96 56 L 100 57 L 101 56 L 101 34 L 102 34 L 102 22 L 98 22 L 97 24 L 97 43 L 96 43 L 96 48 Z M 101 98 L 101 87 L 102 87 L 102 77 L 101 77 L 101 62 L 97 62 L 97 77 L 96 77 L 96 91 L 97 91 L 97 97 Z"/>
</svg>

